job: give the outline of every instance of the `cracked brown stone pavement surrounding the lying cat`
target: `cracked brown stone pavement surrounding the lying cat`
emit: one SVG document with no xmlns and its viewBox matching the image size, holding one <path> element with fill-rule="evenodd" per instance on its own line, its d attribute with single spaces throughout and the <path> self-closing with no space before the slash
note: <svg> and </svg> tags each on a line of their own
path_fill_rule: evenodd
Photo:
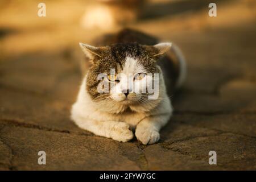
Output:
<svg viewBox="0 0 256 182">
<path fill-rule="evenodd" d="M 31 18 L 29 3 L 20 5 L 28 20 L 17 23 L 13 4 L 5 5 L 0 13 L 0 169 L 255 170 L 256 6 L 234 2 L 218 5 L 217 18 L 209 18 L 205 6 L 130 25 L 174 41 L 187 57 L 187 81 L 172 97 L 174 116 L 151 146 L 97 137 L 69 119 L 81 81 L 77 43 L 102 32 L 81 30 L 72 21 L 76 14 L 62 24 L 51 14 L 40 22 Z M 69 7 L 81 13 L 72 3 Z M 41 150 L 46 165 L 38 164 Z M 208 163 L 212 150 L 217 165 Z"/>
</svg>

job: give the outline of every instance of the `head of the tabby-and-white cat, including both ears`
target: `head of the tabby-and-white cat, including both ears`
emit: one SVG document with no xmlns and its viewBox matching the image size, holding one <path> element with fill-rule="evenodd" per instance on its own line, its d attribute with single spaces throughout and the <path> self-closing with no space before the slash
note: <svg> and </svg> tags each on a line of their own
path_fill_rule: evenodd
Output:
<svg viewBox="0 0 256 182">
<path fill-rule="evenodd" d="M 92 63 L 86 77 L 86 91 L 100 109 L 119 113 L 127 108 L 149 111 L 165 92 L 156 61 L 171 43 L 146 46 L 137 43 L 93 47 L 80 43 Z"/>
</svg>

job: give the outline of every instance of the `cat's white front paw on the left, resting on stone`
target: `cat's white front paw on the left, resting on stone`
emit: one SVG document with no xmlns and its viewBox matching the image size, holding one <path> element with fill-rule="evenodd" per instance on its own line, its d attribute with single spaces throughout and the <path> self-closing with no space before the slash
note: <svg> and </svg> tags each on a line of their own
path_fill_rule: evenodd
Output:
<svg viewBox="0 0 256 182">
<path fill-rule="evenodd" d="M 133 139 L 133 131 L 129 130 L 127 123 L 117 122 L 112 128 L 110 137 L 119 142 L 127 142 Z"/>
</svg>

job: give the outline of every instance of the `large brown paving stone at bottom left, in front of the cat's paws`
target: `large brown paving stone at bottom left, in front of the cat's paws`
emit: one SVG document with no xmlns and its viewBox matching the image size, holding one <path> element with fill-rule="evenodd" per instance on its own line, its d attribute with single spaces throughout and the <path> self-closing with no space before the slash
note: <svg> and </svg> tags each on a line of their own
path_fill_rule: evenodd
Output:
<svg viewBox="0 0 256 182">
<path fill-rule="evenodd" d="M 13 126 L 5 126 L 1 138 L 12 148 L 18 170 L 140 169 L 141 151 L 131 143 Z M 46 165 L 38 164 L 39 151 L 46 152 Z"/>
</svg>

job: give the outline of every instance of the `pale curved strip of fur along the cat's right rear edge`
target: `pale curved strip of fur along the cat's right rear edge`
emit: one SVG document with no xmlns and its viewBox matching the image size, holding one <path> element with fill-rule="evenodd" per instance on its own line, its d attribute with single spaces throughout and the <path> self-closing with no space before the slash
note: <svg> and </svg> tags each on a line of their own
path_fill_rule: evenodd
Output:
<svg viewBox="0 0 256 182">
<path fill-rule="evenodd" d="M 177 77 L 175 88 L 180 88 L 183 85 L 185 78 L 187 76 L 187 66 L 186 66 L 185 57 L 181 52 L 180 48 L 177 47 L 174 43 L 172 43 L 170 51 L 173 59 L 178 65 L 178 70 L 179 70 L 178 71 L 179 75 Z"/>
</svg>

